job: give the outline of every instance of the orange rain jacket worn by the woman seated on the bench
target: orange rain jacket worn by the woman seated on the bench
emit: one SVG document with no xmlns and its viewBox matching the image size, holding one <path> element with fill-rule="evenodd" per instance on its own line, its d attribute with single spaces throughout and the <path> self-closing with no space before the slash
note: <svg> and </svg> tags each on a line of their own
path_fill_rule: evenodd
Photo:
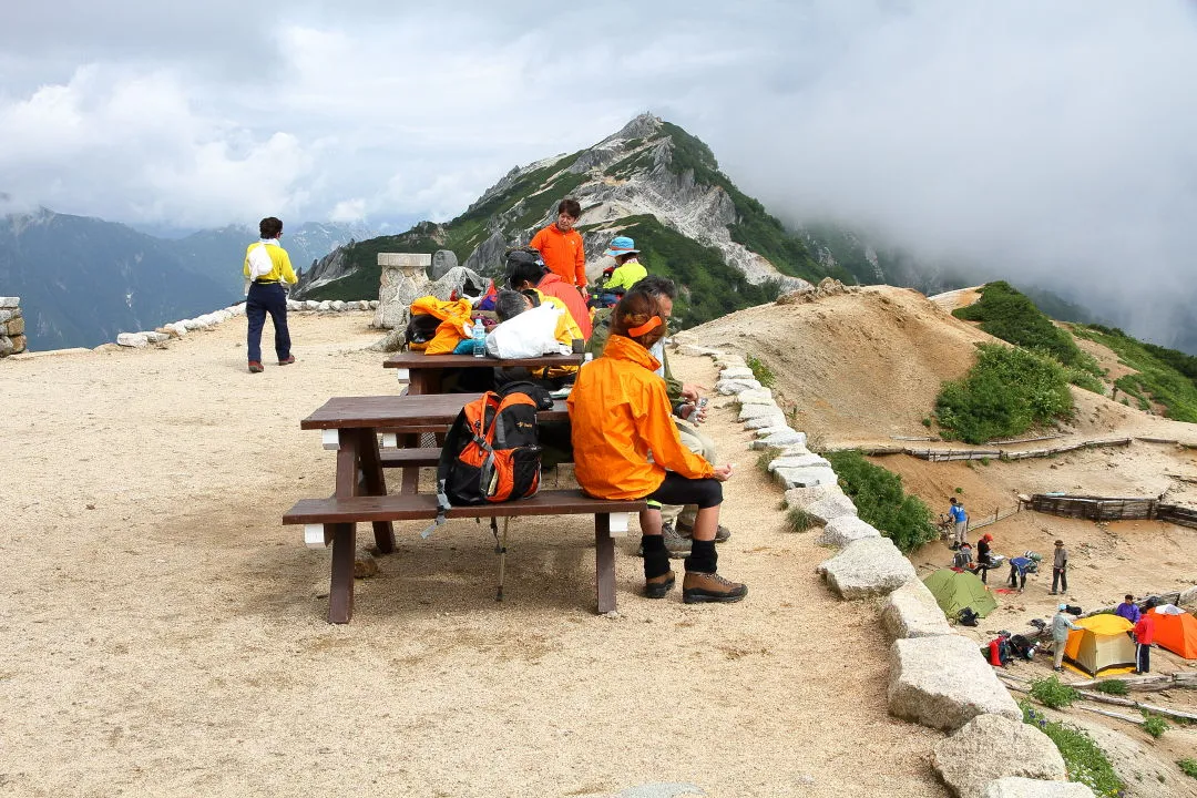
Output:
<svg viewBox="0 0 1197 798">
<path fill-rule="evenodd" d="M 652 373 L 660 365 L 636 341 L 613 335 L 602 357 L 578 371 L 566 404 L 573 473 L 588 494 L 640 499 L 661 487 L 666 469 L 692 480 L 715 475 L 681 445 L 666 382 Z"/>
</svg>

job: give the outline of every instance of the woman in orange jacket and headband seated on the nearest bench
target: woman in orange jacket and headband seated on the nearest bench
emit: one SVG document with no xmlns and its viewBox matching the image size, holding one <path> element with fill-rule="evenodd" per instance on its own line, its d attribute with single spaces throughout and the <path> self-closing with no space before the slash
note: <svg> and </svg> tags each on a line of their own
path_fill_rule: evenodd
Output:
<svg viewBox="0 0 1197 798">
<path fill-rule="evenodd" d="M 615 305 L 607 347 L 578 371 L 567 402 L 575 474 L 582 489 L 600 499 L 698 505 L 682 601 L 736 602 L 748 587 L 716 572 L 715 552 L 721 483 L 731 476 L 731 467 L 715 468 L 682 446 L 670 420 L 666 383 L 654 373 L 661 364 L 649 353 L 664 335 L 666 318 L 656 297 L 631 291 Z M 645 595 L 663 598 L 674 586 L 674 574 L 660 508 L 640 512 L 640 532 Z"/>
</svg>

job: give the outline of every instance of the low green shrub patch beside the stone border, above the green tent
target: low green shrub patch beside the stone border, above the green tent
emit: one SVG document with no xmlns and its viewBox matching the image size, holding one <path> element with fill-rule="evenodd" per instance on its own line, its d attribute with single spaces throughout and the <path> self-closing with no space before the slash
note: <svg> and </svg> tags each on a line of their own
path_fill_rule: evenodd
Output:
<svg viewBox="0 0 1197 798">
<path fill-rule="evenodd" d="M 856 450 L 825 456 L 861 520 L 892 540 L 903 554 L 938 537 L 931 511 L 918 497 L 906 495 L 900 476 L 874 465 Z"/>
</svg>

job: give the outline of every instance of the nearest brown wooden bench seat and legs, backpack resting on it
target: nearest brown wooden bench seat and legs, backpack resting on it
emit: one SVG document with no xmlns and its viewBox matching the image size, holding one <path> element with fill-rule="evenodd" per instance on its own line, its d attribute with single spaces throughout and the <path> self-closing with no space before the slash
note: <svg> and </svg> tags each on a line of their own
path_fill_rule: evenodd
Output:
<svg viewBox="0 0 1197 798">
<path fill-rule="evenodd" d="M 643 500 L 593 499 L 581 491 L 541 491 L 530 499 L 518 501 L 454 507 L 446 513 L 446 517 L 451 519 L 594 514 L 595 593 L 598 611 L 609 613 L 615 609 L 615 544 L 613 537 L 626 535 L 627 514 L 639 512 L 644 507 Z M 353 555 L 357 549 L 358 523 L 432 520 L 436 517 L 436 497 L 402 493 L 303 499 L 282 516 L 282 523 L 303 524 L 304 541 L 310 548 L 324 548 L 332 543 L 333 562 L 328 595 L 328 621 L 329 623 L 348 623 L 353 615 Z"/>
</svg>

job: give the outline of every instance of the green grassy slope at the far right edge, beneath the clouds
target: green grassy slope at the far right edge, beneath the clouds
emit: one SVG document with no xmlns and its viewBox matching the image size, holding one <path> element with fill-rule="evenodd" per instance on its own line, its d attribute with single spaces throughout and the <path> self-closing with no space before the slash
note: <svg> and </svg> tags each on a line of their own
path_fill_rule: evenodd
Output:
<svg viewBox="0 0 1197 798">
<path fill-rule="evenodd" d="M 1073 331 L 1108 347 L 1120 363 L 1138 372 L 1119 377 L 1114 386 L 1134 398 L 1141 410 L 1157 402 L 1167 418 L 1197 422 L 1197 358 L 1137 341 L 1118 328 L 1101 324 L 1077 324 Z"/>
</svg>

